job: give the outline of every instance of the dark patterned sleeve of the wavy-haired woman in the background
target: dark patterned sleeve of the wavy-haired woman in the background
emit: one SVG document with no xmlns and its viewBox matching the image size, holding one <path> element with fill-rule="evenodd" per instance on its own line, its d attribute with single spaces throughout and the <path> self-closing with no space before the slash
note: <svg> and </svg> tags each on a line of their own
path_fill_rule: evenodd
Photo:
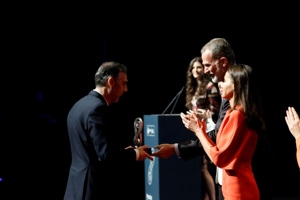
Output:
<svg viewBox="0 0 300 200">
<path fill-rule="evenodd" d="M 218 120 L 221 97 L 219 95 L 218 89 L 214 86 L 214 83 L 209 82 L 207 84 L 207 98 L 209 103 L 209 110 L 211 111 L 211 117 L 214 123 Z"/>
</svg>

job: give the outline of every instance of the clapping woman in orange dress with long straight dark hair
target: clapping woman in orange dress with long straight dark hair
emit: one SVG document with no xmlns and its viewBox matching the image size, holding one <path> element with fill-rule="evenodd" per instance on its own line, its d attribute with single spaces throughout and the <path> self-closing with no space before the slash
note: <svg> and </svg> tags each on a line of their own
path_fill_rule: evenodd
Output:
<svg viewBox="0 0 300 200">
<path fill-rule="evenodd" d="M 226 200 L 259 199 L 251 159 L 258 132 L 265 128 L 253 69 L 233 65 L 221 85 L 222 98 L 229 99 L 227 111 L 217 133 L 216 143 L 206 135 L 205 123 L 181 114 L 184 125 L 199 138 L 211 161 L 223 170 L 222 192 Z M 196 119 L 196 120 L 195 120 Z"/>
</svg>

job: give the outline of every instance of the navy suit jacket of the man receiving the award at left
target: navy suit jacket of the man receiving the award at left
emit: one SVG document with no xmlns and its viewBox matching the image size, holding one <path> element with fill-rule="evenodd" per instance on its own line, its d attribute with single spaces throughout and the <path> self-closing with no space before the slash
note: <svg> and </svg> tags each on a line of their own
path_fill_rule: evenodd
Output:
<svg viewBox="0 0 300 200">
<path fill-rule="evenodd" d="M 92 90 L 70 110 L 67 126 L 72 164 L 64 199 L 100 199 L 105 189 L 105 165 L 109 160 L 134 161 L 133 149 L 113 146 L 113 119 L 104 97 Z"/>
</svg>

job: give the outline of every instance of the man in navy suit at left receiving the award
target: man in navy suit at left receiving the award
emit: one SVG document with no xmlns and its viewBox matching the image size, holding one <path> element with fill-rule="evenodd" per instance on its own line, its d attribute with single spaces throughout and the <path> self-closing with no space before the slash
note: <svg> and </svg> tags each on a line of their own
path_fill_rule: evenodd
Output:
<svg viewBox="0 0 300 200">
<path fill-rule="evenodd" d="M 127 92 L 126 67 L 117 62 L 105 62 L 95 75 L 96 89 L 80 99 L 71 108 L 67 126 L 71 144 L 72 164 L 64 199 L 101 199 L 107 172 L 105 161 L 153 160 L 143 149 L 118 149 L 113 146 L 114 119 L 109 108 Z M 104 191 L 106 190 L 106 191 Z"/>
</svg>

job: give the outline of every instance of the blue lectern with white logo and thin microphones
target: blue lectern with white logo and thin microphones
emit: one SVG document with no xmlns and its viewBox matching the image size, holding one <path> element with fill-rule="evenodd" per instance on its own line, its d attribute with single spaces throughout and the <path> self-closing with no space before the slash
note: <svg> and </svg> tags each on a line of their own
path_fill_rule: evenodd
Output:
<svg viewBox="0 0 300 200">
<path fill-rule="evenodd" d="M 196 138 L 179 114 L 144 115 L 144 144 L 174 144 Z M 152 152 L 154 149 L 152 149 Z M 156 151 L 156 150 L 155 150 Z M 145 199 L 201 199 L 200 157 L 183 161 L 177 155 L 145 159 Z"/>
</svg>

